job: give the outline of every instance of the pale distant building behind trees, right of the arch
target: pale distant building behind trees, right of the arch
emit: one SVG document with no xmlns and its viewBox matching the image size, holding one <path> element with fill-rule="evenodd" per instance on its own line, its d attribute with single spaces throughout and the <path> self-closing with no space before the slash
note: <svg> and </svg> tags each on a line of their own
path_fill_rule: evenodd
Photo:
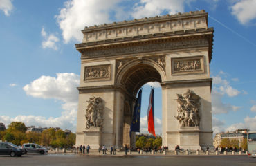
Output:
<svg viewBox="0 0 256 166">
<path fill-rule="evenodd" d="M 238 140 L 239 146 L 244 141 L 244 138 L 247 136 L 248 129 L 237 129 L 235 131 L 228 131 L 226 133 L 217 133 L 213 140 L 214 147 L 219 147 L 221 144 L 221 140 L 224 138 L 228 138 L 230 140 Z"/>
</svg>

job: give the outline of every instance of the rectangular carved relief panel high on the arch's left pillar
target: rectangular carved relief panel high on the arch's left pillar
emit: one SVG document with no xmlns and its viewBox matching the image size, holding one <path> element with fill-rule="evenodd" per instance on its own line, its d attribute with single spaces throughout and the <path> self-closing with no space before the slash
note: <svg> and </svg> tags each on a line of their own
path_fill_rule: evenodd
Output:
<svg viewBox="0 0 256 166">
<path fill-rule="evenodd" d="M 108 80 L 111 74 L 111 66 L 89 66 L 84 68 L 84 81 Z"/>
</svg>

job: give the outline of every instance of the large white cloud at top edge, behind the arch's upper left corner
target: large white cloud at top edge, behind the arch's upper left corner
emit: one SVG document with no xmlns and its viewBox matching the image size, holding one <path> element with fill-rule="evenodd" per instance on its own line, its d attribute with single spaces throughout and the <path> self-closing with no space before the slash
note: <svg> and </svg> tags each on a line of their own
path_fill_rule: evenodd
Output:
<svg viewBox="0 0 256 166">
<path fill-rule="evenodd" d="M 118 0 L 72 0 L 64 3 L 60 14 L 55 16 L 62 30 L 64 42 L 82 40 L 81 30 L 84 26 L 109 23 L 110 12 L 114 12 Z"/>
</svg>

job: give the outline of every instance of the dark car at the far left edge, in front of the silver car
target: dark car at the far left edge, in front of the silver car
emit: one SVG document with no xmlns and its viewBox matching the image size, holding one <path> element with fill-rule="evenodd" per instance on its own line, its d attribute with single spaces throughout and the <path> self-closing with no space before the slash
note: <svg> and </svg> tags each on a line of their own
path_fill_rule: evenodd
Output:
<svg viewBox="0 0 256 166">
<path fill-rule="evenodd" d="M 21 156 L 25 154 L 25 150 L 10 142 L 0 142 L 0 155 Z"/>
</svg>

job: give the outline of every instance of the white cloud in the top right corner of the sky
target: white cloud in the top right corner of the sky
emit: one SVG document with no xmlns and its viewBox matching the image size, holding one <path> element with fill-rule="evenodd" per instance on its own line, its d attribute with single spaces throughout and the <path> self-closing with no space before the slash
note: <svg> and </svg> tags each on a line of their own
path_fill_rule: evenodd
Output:
<svg viewBox="0 0 256 166">
<path fill-rule="evenodd" d="M 256 19 L 255 6 L 255 0 L 236 1 L 231 6 L 232 15 L 235 15 L 241 24 L 247 24 L 249 21 Z"/>
</svg>

